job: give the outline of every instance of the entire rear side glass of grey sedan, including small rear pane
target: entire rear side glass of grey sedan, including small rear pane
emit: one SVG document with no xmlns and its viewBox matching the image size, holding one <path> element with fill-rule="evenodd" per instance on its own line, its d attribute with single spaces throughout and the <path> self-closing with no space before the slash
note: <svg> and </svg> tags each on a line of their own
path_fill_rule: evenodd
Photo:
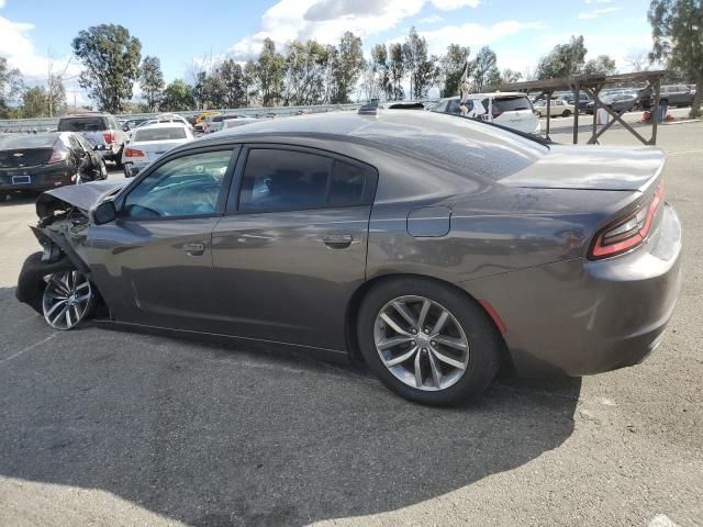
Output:
<svg viewBox="0 0 703 527">
<path fill-rule="evenodd" d="M 249 150 L 239 211 L 302 211 L 369 201 L 371 169 L 306 152 Z"/>
</svg>

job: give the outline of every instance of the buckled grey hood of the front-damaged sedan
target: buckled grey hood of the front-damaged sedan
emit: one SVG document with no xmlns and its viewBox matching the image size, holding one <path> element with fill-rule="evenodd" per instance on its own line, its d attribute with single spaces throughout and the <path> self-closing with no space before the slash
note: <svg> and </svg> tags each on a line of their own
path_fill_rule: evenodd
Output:
<svg viewBox="0 0 703 527">
<path fill-rule="evenodd" d="M 87 215 L 93 205 L 126 183 L 126 180 L 93 181 L 49 190 L 36 200 L 36 215 L 46 218 L 69 208 L 79 209 Z"/>
</svg>

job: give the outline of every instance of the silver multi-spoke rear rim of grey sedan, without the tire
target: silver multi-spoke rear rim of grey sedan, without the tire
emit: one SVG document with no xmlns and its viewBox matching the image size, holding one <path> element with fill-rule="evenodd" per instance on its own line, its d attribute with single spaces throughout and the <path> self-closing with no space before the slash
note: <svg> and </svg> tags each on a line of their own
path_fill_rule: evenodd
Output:
<svg viewBox="0 0 703 527">
<path fill-rule="evenodd" d="M 381 361 L 401 382 L 445 390 L 467 371 L 469 343 L 457 318 L 424 296 L 399 296 L 376 317 L 373 341 Z"/>
</svg>

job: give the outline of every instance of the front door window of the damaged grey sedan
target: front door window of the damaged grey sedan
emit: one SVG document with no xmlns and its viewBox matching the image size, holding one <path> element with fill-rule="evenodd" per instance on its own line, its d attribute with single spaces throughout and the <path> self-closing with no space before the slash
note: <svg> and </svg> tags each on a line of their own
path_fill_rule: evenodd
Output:
<svg viewBox="0 0 703 527">
<path fill-rule="evenodd" d="M 150 172 L 127 194 L 127 217 L 213 214 L 232 150 L 191 154 L 171 159 Z"/>
</svg>

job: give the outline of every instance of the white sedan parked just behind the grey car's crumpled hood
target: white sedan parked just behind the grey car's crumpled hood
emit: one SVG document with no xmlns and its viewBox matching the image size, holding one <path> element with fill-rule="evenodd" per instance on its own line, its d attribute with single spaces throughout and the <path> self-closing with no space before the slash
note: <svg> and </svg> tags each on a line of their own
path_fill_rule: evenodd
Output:
<svg viewBox="0 0 703 527">
<path fill-rule="evenodd" d="M 180 122 L 157 123 L 134 128 L 132 137 L 124 145 L 122 165 L 124 176 L 136 176 L 140 170 L 155 161 L 171 148 L 194 138 L 190 126 Z"/>
</svg>

